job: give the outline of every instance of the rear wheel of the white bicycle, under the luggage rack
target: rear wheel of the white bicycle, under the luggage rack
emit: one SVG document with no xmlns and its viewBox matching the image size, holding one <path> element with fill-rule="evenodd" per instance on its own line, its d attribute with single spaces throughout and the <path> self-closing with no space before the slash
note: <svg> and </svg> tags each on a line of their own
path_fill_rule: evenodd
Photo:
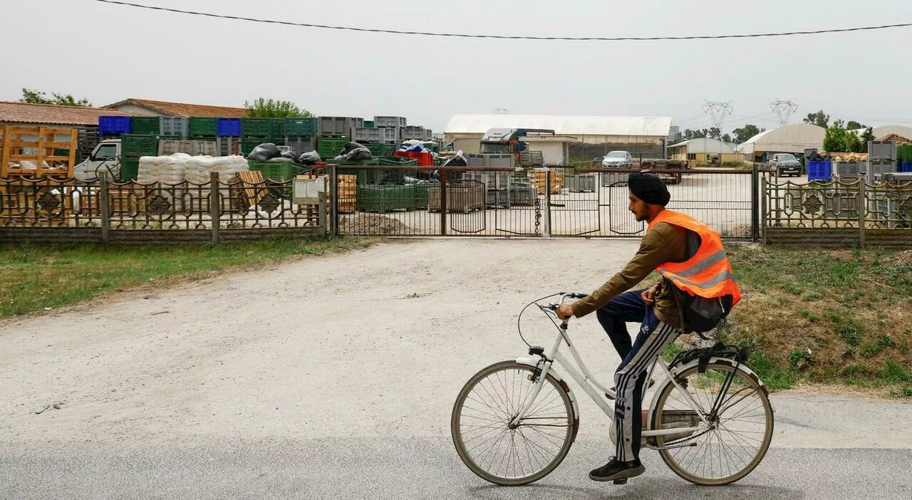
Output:
<svg viewBox="0 0 912 500">
<path fill-rule="evenodd" d="M 655 436 L 662 460 L 694 484 L 731 484 L 750 474 L 772 441 L 772 406 L 766 391 L 747 372 L 718 362 L 703 373 L 694 366 L 676 380 L 706 411 L 711 425 L 702 422 L 687 396 L 668 380 L 653 410 L 651 429 L 701 429 Z M 688 446 L 665 447 L 680 444 Z"/>
</svg>

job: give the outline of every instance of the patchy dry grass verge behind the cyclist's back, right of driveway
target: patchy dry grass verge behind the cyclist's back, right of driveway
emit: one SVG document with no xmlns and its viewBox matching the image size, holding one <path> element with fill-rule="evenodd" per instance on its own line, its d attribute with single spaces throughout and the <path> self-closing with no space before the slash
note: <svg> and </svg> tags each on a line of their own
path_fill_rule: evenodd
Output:
<svg viewBox="0 0 912 500">
<path fill-rule="evenodd" d="M 731 245 L 727 340 L 772 389 L 843 382 L 912 397 L 912 251 Z"/>
</svg>

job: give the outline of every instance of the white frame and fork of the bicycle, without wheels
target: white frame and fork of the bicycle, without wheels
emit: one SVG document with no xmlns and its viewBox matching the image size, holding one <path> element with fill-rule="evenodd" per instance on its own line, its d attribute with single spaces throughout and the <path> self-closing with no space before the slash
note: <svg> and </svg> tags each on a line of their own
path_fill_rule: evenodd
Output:
<svg viewBox="0 0 912 500">
<path fill-rule="evenodd" d="M 553 314 L 553 313 L 549 313 L 545 309 L 543 309 L 543 311 L 545 311 L 545 314 Z M 560 347 L 561 347 L 562 343 L 565 343 L 567 348 L 570 349 L 570 354 L 573 356 L 573 359 L 575 360 L 576 365 L 579 366 L 580 370 L 576 370 L 574 363 L 570 359 L 567 359 L 564 356 L 564 354 L 560 352 Z M 607 394 L 607 395 L 617 399 L 617 393 L 615 391 L 612 391 L 612 390 L 606 388 L 605 385 L 603 385 L 598 380 L 596 380 L 596 377 L 592 375 L 592 373 L 589 371 L 588 368 L 586 368 L 586 363 L 584 363 L 583 359 L 580 358 L 579 352 L 576 351 L 576 348 L 574 347 L 573 343 L 570 341 L 570 338 L 567 335 L 567 327 L 566 327 L 565 323 L 558 327 L 558 335 L 554 339 L 554 342 L 552 343 L 551 348 L 544 349 L 544 353 L 542 354 L 542 356 L 543 356 L 543 358 L 538 359 L 537 361 L 535 359 L 531 359 L 533 362 L 530 364 L 534 364 L 534 366 L 536 366 L 536 367 L 539 365 L 542 366 L 541 374 L 539 375 L 538 380 L 536 380 L 536 382 L 535 382 L 535 387 L 533 389 L 531 396 L 529 398 L 527 398 L 527 401 L 523 405 L 523 408 L 510 422 L 511 425 L 519 425 L 519 423 L 523 421 L 526 414 L 532 408 L 535 399 L 538 398 L 538 393 L 542 390 L 542 387 L 544 386 L 545 375 L 548 374 L 548 370 L 552 370 L 554 361 L 557 361 L 557 363 L 567 372 L 567 374 L 569 374 L 573 378 L 573 380 L 576 380 L 576 383 L 581 388 L 583 388 L 583 391 L 586 391 L 586 394 L 589 395 L 589 397 L 592 399 L 592 401 L 594 401 L 596 403 L 596 405 L 598 405 L 598 407 L 602 409 L 602 411 L 605 411 L 605 414 L 607 415 L 608 419 L 611 420 L 611 422 L 614 422 L 614 419 L 615 419 L 614 404 L 606 401 L 605 397 L 602 394 Z M 700 420 L 703 423 L 709 425 L 710 422 L 706 419 L 706 416 L 705 416 L 707 411 L 700 405 L 700 403 L 698 403 L 697 401 L 694 401 L 693 397 L 690 395 L 690 393 L 688 391 L 684 390 L 679 385 L 678 381 L 675 380 L 675 378 L 672 376 L 671 370 L 668 370 L 668 364 L 665 362 L 664 359 L 661 358 L 661 356 L 659 356 L 657 361 L 649 367 L 646 380 L 649 380 L 649 378 L 652 377 L 653 370 L 655 370 L 656 366 L 658 366 L 658 368 L 665 374 L 665 376 L 668 377 L 668 380 L 671 380 L 671 383 L 673 383 L 675 385 L 675 387 L 677 387 L 679 389 L 679 391 L 681 391 L 683 394 L 685 394 L 687 396 L 687 402 L 688 402 L 690 408 L 693 409 L 693 411 L 696 411 L 697 415 L 700 416 Z M 582 373 L 580 373 L 580 371 L 582 371 Z M 601 393 L 599 391 L 596 391 L 596 388 L 599 391 L 601 391 Z M 646 384 L 644 384 L 644 389 L 643 389 L 644 394 L 646 393 L 646 389 L 647 389 Z M 650 411 L 651 411 L 651 408 L 650 408 Z M 667 429 L 664 431 L 643 431 L 641 433 L 641 435 L 644 437 L 660 436 L 660 435 L 680 434 L 681 432 L 697 432 L 700 430 L 702 430 L 700 427 L 676 427 L 674 429 Z M 677 447 L 677 446 L 668 446 L 668 448 L 671 448 L 671 447 Z"/>
</svg>

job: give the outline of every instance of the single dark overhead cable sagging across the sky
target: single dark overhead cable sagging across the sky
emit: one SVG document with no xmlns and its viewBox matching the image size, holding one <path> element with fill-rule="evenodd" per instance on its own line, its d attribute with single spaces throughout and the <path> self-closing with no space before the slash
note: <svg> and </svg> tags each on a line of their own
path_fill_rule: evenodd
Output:
<svg viewBox="0 0 912 500">
<path fill-rule="evenodd" d="M 912 23 L 902 23 L 895 25 L 881 26 L 860 26 L 845 27 L 834 29 L 817 29 L 813 31 L 783 31 L 779 33 L 754 33 L 750 35 L 699 35 L 699 36 L 506 36 L 506 35 L 470 35 L 467 33 L 432 33 L 428 31 L 402 31 L 397 29 L 379 29 L 368 27 L 354 26 L 332 26 L 332 25 L 315 25 L 309 23 L 293 23 L 291 21 L 278 21 L 275 19 L 257 19 L 255 17 L 244 16 L 227 16 L 223 14 L 212 14 L 210 12 L 194 12 L 191 10 L 172 9 L 168 7 L 159 7 L 154 5 L 132 4 L 130 2 L 118 2 L 115 0 L 95 0 L 103 4 L 126 5 L 130 7 L 160 10 L 173 12 L 177 14 L 186 14 L 190 16 L 217 17 L 220 19 L 233 19 L 236 21 L 249 21 L 252 23 L 264 23 L 270 25 L 299 26 L 299 27 L 316 27 L 320 29 L 337 29 L 346 31 L 360 31 L 367 33 L 387 33 L 392 35 L 415 35 L 415 36 L 453 36 L 460 38 L 499 38 L 506 40 L 567 40 L 567 41 L 599 41 L 599 42 L 620 42 L 620 41 L 656 41 L 656 40 L 718 40 L 722 38 L 760 38 L 764 36 L 796 36 L 796 35 L 822 35 L 824 33 L 846 33 L 850 31 L 870 31 L 875 29 L 888 29 L 896 27 L 912 26 Z"/>
</svg>

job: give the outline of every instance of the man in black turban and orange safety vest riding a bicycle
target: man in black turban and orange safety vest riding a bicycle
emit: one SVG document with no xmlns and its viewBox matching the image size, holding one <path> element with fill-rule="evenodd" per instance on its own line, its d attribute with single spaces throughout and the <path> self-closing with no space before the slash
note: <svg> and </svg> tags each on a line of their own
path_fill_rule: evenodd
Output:
<svg viewBox="0 0 912 500">
<path fill-rule="evenodd" d="M 595 481 L 646 471 L 639 462 L 640 407 L 649 366 L 682 330 L 706 331 L 741 298 L 719 234 L 689 215 L 666 210 L 670 194 L 657 175 L 632 173 L 628 186 L 630 212 L 648 223 L 637 255 L 598 290 L 557 309 L 561 319 L 596 311 L 621 358 L 615 373 L 616 455 L 589 473 Z M 653 270 L 663 276 L 661 282 L 630 290 Z M 634 321 L 641 327 L 631 343 L 626 323 Z"/>
</svg>

